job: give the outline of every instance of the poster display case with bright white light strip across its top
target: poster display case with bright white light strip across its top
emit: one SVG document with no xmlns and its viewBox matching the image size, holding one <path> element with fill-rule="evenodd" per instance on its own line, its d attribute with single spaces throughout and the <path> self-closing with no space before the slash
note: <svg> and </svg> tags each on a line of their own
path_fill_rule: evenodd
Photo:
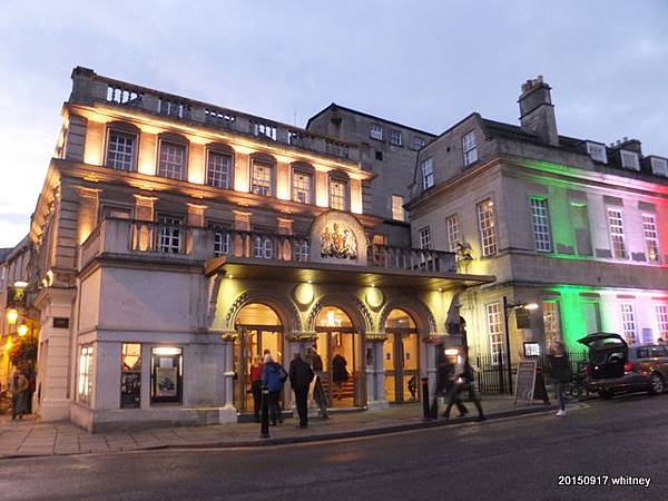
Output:
<svg viewBox="0 0 668 501">
<path fill-rule="evenodd" d="M 151 350 L 151 403 L 180 403 L 183 395 L 183 350 L 158 346 Z"/>
</svg>

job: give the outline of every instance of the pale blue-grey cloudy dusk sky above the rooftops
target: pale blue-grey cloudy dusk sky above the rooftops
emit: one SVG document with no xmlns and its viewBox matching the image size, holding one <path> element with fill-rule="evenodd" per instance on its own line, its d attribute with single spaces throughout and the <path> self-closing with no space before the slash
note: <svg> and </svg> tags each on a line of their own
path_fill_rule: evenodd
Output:
<svg viewBox="0 0 668 501">
<path fill-rule="evenodd" d="M 543 75 L 559 132 L 668 157 L 668 1 L 0 0 L 0 247 L 29 230 L 75 66 L 305 126 L 334 101 L 439 134 L 517 124 Z"/>
</svg>

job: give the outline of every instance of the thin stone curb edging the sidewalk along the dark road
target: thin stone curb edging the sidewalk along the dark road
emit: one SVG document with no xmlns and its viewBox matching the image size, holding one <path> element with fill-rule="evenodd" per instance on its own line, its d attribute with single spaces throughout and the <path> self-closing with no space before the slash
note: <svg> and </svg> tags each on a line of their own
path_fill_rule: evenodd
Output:
<svg viewBox="0 0 668 501">
<path fill-rule="evenodd" d="M 578 404 L 572 404 L 574 406 Z M 579 406 L 579 405 L 578 405 Z M 541 414 L 547 412 L 553 412 L 557 410 L 556 404 L 536 404 L 534 406 L 522 407 L 522 409 L 510 409 L 508 411 L 497 411 L 490 414 L 487 414 L 485 422 L 501 420 L 505 418 L 515 418 L 521 415 L 529 414 Z M 455 418 L 452 420 L 436 419 L 436 420 L 428 420 L 428 421 L 419 421 L 414 423 L 406 424 L 395 424 L 391 426 L 383 428 L 372 428 L 365 430 L 346 430 L 338 432 L 330 432 L 330 433 L 318 433 L 314 435 L 304 435 L 304 436 L 283 436 L 276 439 L 254 439 L 254 440 L 243 440 L 235 442 L 209 442 L 209 443 L 189 443 L 189 444 L 164 444 L 164 445 L 151 445 L 146 448 L 137 448 L 137 449 L 128 449 L 125 451 L 105 451 L 105 452 L 71 452 L 66 454 L 56 454 L 56 453 L 43 453 L 43 454 L 9 454 L 0 456 L 0 461 L 9 460 L 9 459 L 31 459 L 31 458 L 46 458 L 46 456 L 67 456 L 67 455 L 84 455 L 84 454 L 109 454 L 109 453 L 122 453 L 122 452 L 138 452 L 138 451 L 158 451 L 158 450 L 184 450 L 184 449 L 239 449 L 239 448 L 267 448 L 275 445 L 291 445 L 291 444 L 299 444 L 299 443 L 308 443 L 308 442 L 326 442 L 332 440 L 343 440 L 343 439 L 360 439 L 363 436 L 377 436 L 377 435 L 387 435 L 393 433 L 402 433 L 406 431 L 414 430 L 429 430 L 434 428 L 442 426 L 453 426 L 458 424 L 465 424 L 475 422 L 475 416 L 466 416 L 466 418 Z"/>
</svg>

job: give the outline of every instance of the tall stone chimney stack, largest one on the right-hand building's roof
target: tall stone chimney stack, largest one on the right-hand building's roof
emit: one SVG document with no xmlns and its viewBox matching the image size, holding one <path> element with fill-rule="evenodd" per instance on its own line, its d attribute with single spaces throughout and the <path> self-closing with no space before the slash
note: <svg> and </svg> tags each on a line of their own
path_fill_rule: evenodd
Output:
<svg viewBox="0 0 668 501">
<path fill-rule="evenodd" d="M 551 87 L 542 75 L 522 84 L 520 104 L 520 126 L 522 130 L 538 136 L 543 143 L 559 146 L 559 132 L 554 118 L 554 106 L 550 96 Z"/>
</svg>

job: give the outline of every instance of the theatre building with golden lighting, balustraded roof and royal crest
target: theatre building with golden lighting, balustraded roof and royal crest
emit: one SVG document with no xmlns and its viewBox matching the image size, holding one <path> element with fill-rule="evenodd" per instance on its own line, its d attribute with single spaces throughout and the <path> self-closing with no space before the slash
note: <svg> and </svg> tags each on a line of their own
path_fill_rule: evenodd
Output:
<svg viewBox="0 0 668 501">
<path fill-rule="evenodd" d="M 356 143 L 86 68 L 72 80 L 30 229 L 43 420 L 235 421 L 267 350 L 287 366 L 315 346 L 327 390 L 344 356 L 335 407 L 433 384 L 453 299 L 493 277 L 384 245 Z"/>
</svg>

